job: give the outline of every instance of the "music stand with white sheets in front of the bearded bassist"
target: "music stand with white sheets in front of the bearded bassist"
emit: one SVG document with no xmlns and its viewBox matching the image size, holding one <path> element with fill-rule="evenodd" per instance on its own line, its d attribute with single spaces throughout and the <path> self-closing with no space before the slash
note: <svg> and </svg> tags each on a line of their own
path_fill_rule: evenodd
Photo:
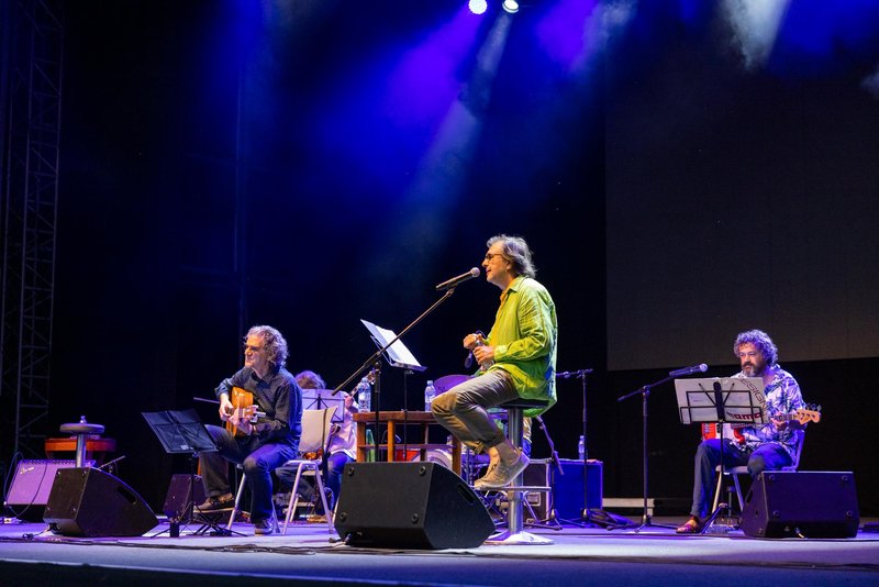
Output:
<svg viewBox="0 0 879 587">
<path fill-rule="evenodd" d="M 723 424 L 765 424 L 766 396 L 760 377 L 710 377 L 675 379 L 675 391 L 682 424 L 716 423 L 721 444 L 721 479 L 724 475 Z M 711 527 L 728 503 L 717 503 L 704 523 L 703 532 Z"/>
</svg>

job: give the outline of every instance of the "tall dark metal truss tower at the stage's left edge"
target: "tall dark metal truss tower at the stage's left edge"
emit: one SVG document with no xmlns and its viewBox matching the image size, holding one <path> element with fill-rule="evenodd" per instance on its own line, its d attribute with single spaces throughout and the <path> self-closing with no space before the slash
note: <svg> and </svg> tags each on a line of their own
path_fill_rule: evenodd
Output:
<svg viewBox="0 0 879 587">
<path fill-rule="evenodd" d="M 49 406 L 64 26 L 60 0 L 3 18 L 0 420 L 12 455 L 40 456 Z M 11 435 L 14 434 L 14 439 Z M 9 455 L 9 456 L 12 456 Z M 8 455 L 2 455 L 7 457 Z"/>
</svg>

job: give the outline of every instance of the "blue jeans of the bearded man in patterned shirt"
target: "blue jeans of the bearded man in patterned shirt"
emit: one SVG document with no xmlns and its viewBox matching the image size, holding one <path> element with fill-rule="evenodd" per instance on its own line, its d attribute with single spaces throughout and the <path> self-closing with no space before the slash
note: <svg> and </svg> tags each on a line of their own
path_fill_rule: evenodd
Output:
<svg viewBox="0 0 879 587">
<path fill-rule="evenodd" d="M 724 468 L 747 465 L 750 476 L 756 477 L 764 470 L 777 470 L 791 463 L 790 455 L 780 444 L 767 443 L 748 454 L 739 451 L 731 440 L 723 440 Z M 702 441 L 696 451 L 693 507 L 690 516 L 702 520 L 708 517 L 709 496 L 714 492 L 714 469 L 720 464 L 720 439 Z"/>
</svg>

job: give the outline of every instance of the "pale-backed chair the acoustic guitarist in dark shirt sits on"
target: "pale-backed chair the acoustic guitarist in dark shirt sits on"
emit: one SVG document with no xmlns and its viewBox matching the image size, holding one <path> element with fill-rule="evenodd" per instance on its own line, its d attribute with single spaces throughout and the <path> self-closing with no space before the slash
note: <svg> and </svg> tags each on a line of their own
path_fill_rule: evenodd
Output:
<svg viewBox="0 0 879 587">
<path fill-rule="evenodd" d="M 327 408 L 324 410 L 302 410 L 302 436 L 299 440 L 299 453 L 318 453 L 319 450 L 323 450 L 326 446 L 327 438 L 330 436 L 330 424 L 333 419 L 333 413 L 335 412 L 335 406 L 332 408 Z M 296 472 L 296 481 L 293 483 L 293 491 L 290 495 L 290 505 L 287 509 L 287 519 L 283 523 L 283 533 L 287 533 L 287 525 L 290 523 L 290 518 L 292 517 L 292 512 L 296 511 L 296 506 L 298 506 L 298 500 L 294 501 L 297 498 L 296 491 L 299 488 L 299 479 L 303 473 L 307 475 L 314 475 L 318 478 L 318 490 L 321 492 L 321 498 L 323 499 L 323 508 L 324 511 L 329 511 L 326 507 L 326 495 L 323 491 L 323 479 L 321 478 L 320 469 L 321 469 L 321 458 L 316 461 L 305 459 L 305 458 L 294 458 L 291 461 L 286 462 L 282 466 L 297 466 Z M 242 468 L 241 465 L 237 465 L 238 468 Z M 241 474 L 241 481 L 238 483 L 238 490 L 235 492 L 235 506 L 232 508 L 232 513 L 229 517 L 229 523 L 226 524 L 226 530 L 232 530 L 232 522 L 235 521 L 235 517 L 241 511 L 241 498 L 244 495 L 244 483 L 247 480 L 247 476 L 242 470 Z M 275 519 L 275 518 L 274 518 Z M 327 521 L 330 520 L 330 513 L 327 513 Z M 333 524 L 330 524 L 330 529 L 332 530 Z M 278 531 L 278 522 L 275 519 L 275 528 L 274 531 Z"/>
</svg>

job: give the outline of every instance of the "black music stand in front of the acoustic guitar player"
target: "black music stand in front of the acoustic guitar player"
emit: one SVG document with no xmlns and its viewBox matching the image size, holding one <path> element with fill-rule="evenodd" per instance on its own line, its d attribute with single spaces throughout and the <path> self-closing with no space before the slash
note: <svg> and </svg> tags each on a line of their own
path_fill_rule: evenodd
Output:
<svg viewBox="0 0 879 587">
<path fill-rule="evenodd" d="M 199 453 L 216 452 L 216 444 L 208 433 L 208 429 L 201 423 L 196 410 L 168 410 L 164 412 L 141 412 L 141 414 L 146 420 L 146 423 L 149 424 L 149 428 L 153 429 L 153 433 L 159 440 L 166 453 L 189 455 L 189 501 L 183 511 L 186 512 L 187 521 L 191 521 L 196 507 L 193 499 L 196 496 L 198 456 Z M 170 536 L 178 538 L 180 535 L 180 519 L 171 518 L 168 522 L 170 523 Z M 208 528 L 216 535 L 232 533 L 230 530 L 218 527 L 214 522 L 207 522 L 202 527 L 204 530 Z M 201 529 L 197 533 L 201 533 Z"/>
</svg>

